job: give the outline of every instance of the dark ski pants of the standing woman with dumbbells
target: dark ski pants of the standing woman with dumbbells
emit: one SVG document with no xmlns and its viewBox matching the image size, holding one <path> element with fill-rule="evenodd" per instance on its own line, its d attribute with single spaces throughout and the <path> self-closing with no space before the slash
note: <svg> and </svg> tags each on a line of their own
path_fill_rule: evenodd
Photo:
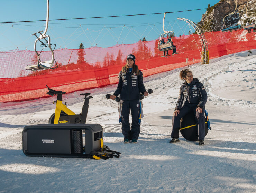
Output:
<svg viewBox="0 0 256 193">
<path fill-rule="evenodd" d="M 139 125 L 139 100 L 120 100 L 122 110 L 122 133 L 124 139 L 138 140 L 140 134 Z M 130 127 L 129 115 L 131 110 L 132 123 Z"/>
</svg>

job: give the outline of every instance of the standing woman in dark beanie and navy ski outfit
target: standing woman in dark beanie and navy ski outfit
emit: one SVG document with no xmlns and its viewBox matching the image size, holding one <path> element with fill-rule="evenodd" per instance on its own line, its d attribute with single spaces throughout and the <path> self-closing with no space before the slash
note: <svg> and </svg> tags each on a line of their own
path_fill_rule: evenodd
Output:
<svg viewBox="0 0 256 193">
<path fill-rule="evenodd" d="M 143 84 L 143 74 L 135 64 L 135 56 L 130 54 L 127 56 L 126 65 L 118 75 L 117 90 L 110 99 L 120 94 L 120 109 L 122 112 L 122 133 L 124 135 L 124 143 L 137 143 L 140 134 L 139 125 L 139 94 L 148 95 Z M 131 110 L 132 123 L 130 128 L 129 115 Z"/>
</svg>

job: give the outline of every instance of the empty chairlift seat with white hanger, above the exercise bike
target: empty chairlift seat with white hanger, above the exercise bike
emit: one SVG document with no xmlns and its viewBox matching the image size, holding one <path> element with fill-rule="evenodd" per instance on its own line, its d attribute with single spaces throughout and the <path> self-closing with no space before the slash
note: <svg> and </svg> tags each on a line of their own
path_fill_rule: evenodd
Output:
<svg viewBox="0 0 256 193">
<path fill-rule="evenodd" d="M 37 64 L 35 65 L 27 65 L 25 67 L 26 70 L 42 70 L 42 69 L 54 69 L 52 68 L 53 64 L 54 64 L 54 53 L 53 53 L 53 50 L 55 49 L 56 47 L 56 44 L 54 44 L 54 49 L 52 49 L 52 44 L 51 44 L 51 39 L 50 39 L 50 36 L 49 35 L 46 35 L 46 32 L 47 32 L 47 29 L 48 29 L 48 23 L 49 23 L 49 0 L 46 0 L 47 2 L 47 13 L 46 13 L 46 24 L 45 24 L 45 30 L 44 32 L 43 31 L 39 31 L 37 33 L 40 34 L 40 36 L 38 37 L 36 34 L 37 33 L 34 33 L 32 35 L 35 35 L 36 36 L 36 40 L 35 40 L 35 43 L 34 43 L 34 50 L 37 54 Z M 43 32 L 43 33 L 42 33 Z M 47 40 L 48 39 L 48 40 Z M 41 43 L 41 46 L 43 46 L 42 50 L 39 52 L 37 52 L 36 50 L 36 43 L 37 41 L 39 41 Z M 45 42 L 45 43 L 44 43 Z M 51 60 L 48 60 L 48 61 L 41 61 L 40 60 L 40 54 L 42 53 L 43 49 L 44 48 L 49 48 L 52 52 L 52 59 Z M 55 62 L 56 63 L 56 62 Z M 57 65 L 57 64 L 56 64 Z M 58 67 L 58 66 L 57 66 Z M 55 68 L 57 68 L 55 67 Z"/>
</svg>

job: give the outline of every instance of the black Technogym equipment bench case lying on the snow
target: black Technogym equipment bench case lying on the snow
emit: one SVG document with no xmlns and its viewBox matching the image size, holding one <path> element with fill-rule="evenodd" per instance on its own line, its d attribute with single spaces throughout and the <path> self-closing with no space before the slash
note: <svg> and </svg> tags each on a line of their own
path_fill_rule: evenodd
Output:
<svg viewBox="0 0 256 193">
<path fill-rule="evenodd" d="M 23 152 L 27 156 L 91 158 L 100 149 L 101 138 L 100 124 L 26 126 L 22 132 Z"/>
</svg>

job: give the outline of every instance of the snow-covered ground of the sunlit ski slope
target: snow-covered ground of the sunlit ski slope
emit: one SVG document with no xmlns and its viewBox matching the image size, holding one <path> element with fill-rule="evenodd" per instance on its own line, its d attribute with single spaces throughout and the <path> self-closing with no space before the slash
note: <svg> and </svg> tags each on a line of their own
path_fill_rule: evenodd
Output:
<svg viewBox="0 0 256 193">
<path fill-rule="evenodd" d="M 256 50 L 189 67 L 208 92 L 212 130 L 205 146 L 180 135 L 170 144 L 172 114 L 183 81 L 176 69 L 144 78 L 154 92 L 143 99 L 138 144 L 123 144 L 117 103 L 105 98 L 116 85 L 66 94 L 80 113 L 80 93 L 90 92 L 88 122 L 104 128 L 104 143 L 121 152 L 109 160 L 27 157 L 25 125 L 47 123 L 54 98 L 0 103 L 2 192 L 256 192 Z"/>
</svg>

